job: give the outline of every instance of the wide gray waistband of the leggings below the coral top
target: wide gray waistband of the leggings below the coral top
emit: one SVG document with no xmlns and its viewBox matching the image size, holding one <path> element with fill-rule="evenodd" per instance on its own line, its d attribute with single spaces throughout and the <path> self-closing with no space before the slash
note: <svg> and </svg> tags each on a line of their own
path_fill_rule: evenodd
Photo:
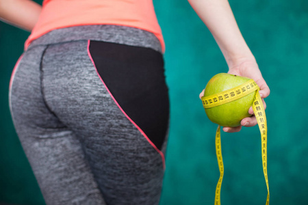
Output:
<svg viewBox="0 0 308 205">
<path fill-rule="evenodd" d="M 118 25 L 84 25 L 55 29 L 31 42 L 27 49 L 81 40 L 98 40 L 129 46 L 141 46 L 162 53 L 162 45 L 153 33 Z"/>
</svg>

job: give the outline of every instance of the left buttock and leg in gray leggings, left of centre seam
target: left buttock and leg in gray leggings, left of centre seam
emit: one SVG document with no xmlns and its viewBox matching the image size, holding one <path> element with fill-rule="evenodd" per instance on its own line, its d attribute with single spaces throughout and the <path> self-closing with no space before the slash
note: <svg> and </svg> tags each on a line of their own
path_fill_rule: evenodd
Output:
<svg viewBox="0 0 308 205">
<path fill-rule="evenodd" d="M 41 59 L 47 46 L 23 55 L 10 86 L 16 132 L 46 204 L 105 204 L 75 133 L 44 100 Z"/>
</svg>

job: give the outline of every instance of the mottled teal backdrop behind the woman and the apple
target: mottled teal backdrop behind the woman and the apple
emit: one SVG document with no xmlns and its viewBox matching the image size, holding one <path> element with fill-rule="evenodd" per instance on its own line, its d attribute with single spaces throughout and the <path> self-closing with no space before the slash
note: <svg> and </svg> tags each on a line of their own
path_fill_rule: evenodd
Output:
<svg viewBox="0 0 308 205">
<path fill-rule="evenodd" d="M 308 74 L 308 1 L 229 1 L 271 89 L 268 118 L 270 204 L 308 204 L 305 129 Z M 219 177 L 216 124 L 198 94 L 227 64 L 214 38 L 187 1 L 154 0 L 166 41 L 171 124 L 161 205 L 214 204 Z M 29 33 L 0 23 L 0 204 L 44 204 L 14 131 L 8 85 Z M 222 204 L 265 204 L 257 126 L 222 133 Z"/>
</svg>

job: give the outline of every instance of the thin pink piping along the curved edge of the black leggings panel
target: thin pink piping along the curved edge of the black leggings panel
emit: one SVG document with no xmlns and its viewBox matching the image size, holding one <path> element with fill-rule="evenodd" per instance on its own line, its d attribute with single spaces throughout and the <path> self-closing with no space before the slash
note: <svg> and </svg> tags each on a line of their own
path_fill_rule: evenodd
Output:
<svg viewBox="0 0 308 205">
<path fill-rule="evenodd" d="M 92 55 L 91 55 L 91 53 L 90 53 L 90 40 L 88 40 L 88 56 L 90 57 L 90 59 L 91 59 L 91 61 L 92 61 L 92 64 L 93 64 L 95 70 L 97 71 L 97 66 L 95 66 L 95 63 L 94 63 L 94 61 L 93 61 L 93 59 L 92 59 Z M 122 111 L 123 114 L 125 115 L 125 117 L 126 117 L 129 121 L 131 121 L 131 123 L 132 123 L 134 126 L 136 126 L 136 128 L 138 128 L 138 131 L 140 131 L 140 133 L 145 137 L 145 139 L 146 139 L 147 141 L 149 141 L 149 143 L 151 144 L 151 146 L 153 146 L 153 148 L 160 154 L 160 156 L 162 156 L 162 164 L 163 164 L 163 167 L 164 167 L 164 169 L 165 169 L 165 166 L 166 166 L 166 165 L 165 165 L 165 156 L 164 156 L 164 153 L 163 153 L 161 150 L 159 150 L 159 149 L 155 146 L 155 144 L 149 139 L 149 137 L 146 136 L 146 134 L 144 133 L 144 131 L 142 131 L 142 129 L 141 129 L 135 122 L 133 122 L 133 120 L 131 120 L 131 118 L 129 118 L 129 115 L 127 115 L 127 113 L 125 113 L 125 111 L 122 109 L 122 107 L 120 107 L 120 105 L 118 104 L 118 102 L 116 101 L 116 99 L 114 98 L 114 96 L 112 95 L 112 93 L 110 92 L 110 90 L 108 89 L 107 85 L 105 84 L 105 82 L 103 81 L 103 79 L 101 78 L 101 76 L 99 75 L 99 72 L 98 72 L 98 71 L 97 71 L 97 75 L 99 76 L 99 78 L 101 79 L 101 81 L 103 82 L 103 84 L 105 85 L 106 90 L 109 92 L 110 96 L 112 96 L 112 99 L 114 100 L 114 102 L 116 102 L 116 105 L 118 106 L 118 108 L 120 109 L 120 111 Z"/>
</svg>

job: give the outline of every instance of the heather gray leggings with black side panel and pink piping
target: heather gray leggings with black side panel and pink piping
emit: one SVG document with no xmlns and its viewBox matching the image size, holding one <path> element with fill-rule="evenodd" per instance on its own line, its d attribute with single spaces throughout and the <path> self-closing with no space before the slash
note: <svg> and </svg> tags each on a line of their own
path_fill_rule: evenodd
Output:
<svg viewBox="0 0 308 205">
<path fill-rule="evenodd" d="M 14 126 L 44 200 L 159 204 L 169 115 L 162 54 L 155 43 L 73 31 L 32 44 L 11 79 Z"/>
</svg>

